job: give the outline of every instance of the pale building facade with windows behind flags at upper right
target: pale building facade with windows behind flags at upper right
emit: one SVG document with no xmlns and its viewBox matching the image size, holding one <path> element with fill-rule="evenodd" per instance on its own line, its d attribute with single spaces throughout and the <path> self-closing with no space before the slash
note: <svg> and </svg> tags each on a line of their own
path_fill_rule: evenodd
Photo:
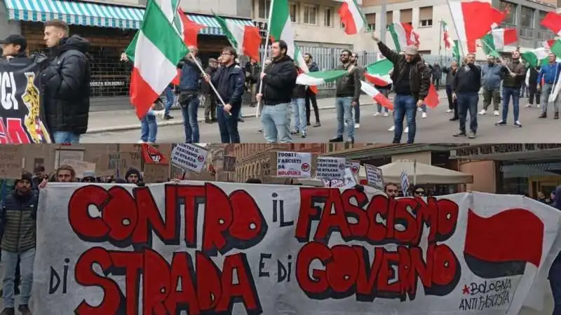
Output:
<svg viewBox="0 0 561 315">
<path fill-rule="evenodd" d="M 386 24 L 392 22 L 410 23 L 419 34 L 419 50 L 426 55 L 452 55 L 452 50 L 444 47 L 442 38 L 442 22 L 447 24 L 453 39 L 457 38 L 454 22 L 446 0 L 364 0 L 363 12 L 367 22 L 380 36 L 382 3 L 386 1 Z M 508 10 L 501 27 L 515 27 L 518 30 L 519 41 L 517 45 L 507 46 L 505 52 L 530 50 L 541 47 L 543 41 L 554 38 L 554 34 L 540 25 L 541 20 L 549 11 L 555 11 L 555 0 L 489 0 L 494 8 L 501 11 Z M 386 42 L 394 47 L 389 34 Z M 478 48 L 478 59 L 484 59 L 482 48 Z"/>
</svg>

